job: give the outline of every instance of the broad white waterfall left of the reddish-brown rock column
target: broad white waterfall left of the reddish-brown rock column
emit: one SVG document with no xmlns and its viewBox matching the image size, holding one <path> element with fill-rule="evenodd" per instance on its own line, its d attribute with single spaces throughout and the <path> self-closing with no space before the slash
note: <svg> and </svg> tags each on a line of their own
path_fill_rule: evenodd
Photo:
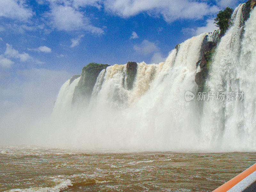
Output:
<svg viewBox="0 0 256 192">
<path fill-rule="evenodd" d="M 139 63 L 132 90 L 125 86 L 126 65 L 109 66 L 97 78 L 90 105 L 72 123 L 58 126 L 72 127 L 65 132 L 90 149 L 195 149 L 198 109 L 184 94 L 197 89 L 196 62 L 205 36 L 188 39 L 158 65 Z"/>
</svg>

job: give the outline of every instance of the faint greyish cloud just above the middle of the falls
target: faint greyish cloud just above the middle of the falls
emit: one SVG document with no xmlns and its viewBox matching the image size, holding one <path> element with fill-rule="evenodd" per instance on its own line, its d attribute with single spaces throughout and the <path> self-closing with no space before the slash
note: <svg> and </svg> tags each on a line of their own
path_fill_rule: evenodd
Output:
<svg viewBox="0 0 256 192">
<path fill-rule="evenodd" d="M 146 39 L 143 40 L 141 44 L 134 45 L 133 49 L 141 55 L 148 55 L 152 52 L 159 51 L 159 47 L 155 43 L 150 42 Z"/>
</svg>

